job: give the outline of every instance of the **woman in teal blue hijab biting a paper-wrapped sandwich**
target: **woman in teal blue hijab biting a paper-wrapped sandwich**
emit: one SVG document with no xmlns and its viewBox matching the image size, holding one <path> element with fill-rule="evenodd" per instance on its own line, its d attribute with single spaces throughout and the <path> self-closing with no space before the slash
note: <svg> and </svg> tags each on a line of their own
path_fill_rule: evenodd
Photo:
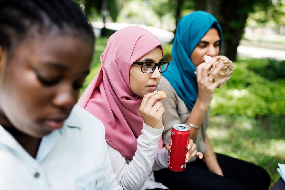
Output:
<svg viewBox="0 0 285 190">
<path fill-rule="evenodd" d="M 196 149 L 203 152 L 203 161 L 190 159 L 180 173 L 168 169 L 155 172 L 156 181 L 170 189 L 268 189 L 270 177 L 259 166 L 213 152 L 206 135 L 209 105 L 215 88 L 226 81 L 212 82 L 223 67 L 221 63 L 210 76 L 215 59 L 207 64 L 204 55 L 217 56 L 222 46 L 222 30 L 215 17 L 205 11 L 195 11 L 182 17 L 176 29 L 172 47 L 172 62 L 157 87 L 167 98 L 162 101 L 163 142 L 170 148 L 173 124 L 190 126 L 190 138 Z M 188 155 L 189 156 L 189 155 Z M 187 157 L 187 156 L 186 156 Z M 173 183 L 176 181 L 176 183 Z"/>
</svg>

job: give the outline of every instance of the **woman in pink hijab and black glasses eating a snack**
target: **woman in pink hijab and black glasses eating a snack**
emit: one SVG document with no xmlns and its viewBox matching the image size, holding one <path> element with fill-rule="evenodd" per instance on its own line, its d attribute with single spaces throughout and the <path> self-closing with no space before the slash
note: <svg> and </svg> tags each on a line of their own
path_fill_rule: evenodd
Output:
<svg viewBox="0 0 285 190">
<path fill-rule="evenodd" d="M 168 189 L 155 182 L 152 170 L 167 167 L 168 152 L 162 148 L 162 115 L 156 94 L 163 61 L 159 40 L 147 30 L 130 26 L 108 40 L 101 68 L 78 105 L 100 119 L 114 173 L 123 189 Z M 186 161 L 203 157 L 190 140 Z"/>
</svg>

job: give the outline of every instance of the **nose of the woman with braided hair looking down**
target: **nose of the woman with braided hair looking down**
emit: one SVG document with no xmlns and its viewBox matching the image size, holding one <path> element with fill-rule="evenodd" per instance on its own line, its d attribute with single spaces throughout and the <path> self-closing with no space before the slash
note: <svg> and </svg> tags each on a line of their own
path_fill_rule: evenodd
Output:
<svg viewBox="0 0 285 190">
<path fill-rule="evenodd" d="M 77 101 L 78 93 L 75 92 L 72 85 L 60 87 L 58 93 L 54 96 L 52 103 L 56 107 L 72 108 Z"/>
</svg>

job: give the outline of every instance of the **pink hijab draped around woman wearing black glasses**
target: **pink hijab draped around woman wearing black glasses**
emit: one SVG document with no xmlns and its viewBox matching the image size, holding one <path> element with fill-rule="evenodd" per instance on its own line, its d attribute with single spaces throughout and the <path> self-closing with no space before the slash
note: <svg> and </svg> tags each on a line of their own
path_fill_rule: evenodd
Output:
<svg viewBox="0 0 285 190">
<path fill-rule="evenodd" d="M 142 98 L 130 89 L 129 71 L 133 62 L 157 46 L 163 54 L 160 41 L 141 27 L 129 26 L 115 32 L 101 55 L 98 74 L 78 101 L 103 122 L 107 143 L 129 160 L 135 155 L 143 125 L 139 112 Z"/>
</svg>

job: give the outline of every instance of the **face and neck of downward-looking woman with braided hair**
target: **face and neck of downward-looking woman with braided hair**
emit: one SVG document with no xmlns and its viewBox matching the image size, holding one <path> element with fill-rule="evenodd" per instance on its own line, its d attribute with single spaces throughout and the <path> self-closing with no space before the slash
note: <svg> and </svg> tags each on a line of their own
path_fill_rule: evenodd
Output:
<svg viewBox="0 0 285 190">
<path fill-rule="evenodd" d="M 69 116 L 92 56 L 87 40 L 57 32 L 25 39 L 9 59 L 0 46 L 0 124 L 33 157 Z"/>
</svg>

